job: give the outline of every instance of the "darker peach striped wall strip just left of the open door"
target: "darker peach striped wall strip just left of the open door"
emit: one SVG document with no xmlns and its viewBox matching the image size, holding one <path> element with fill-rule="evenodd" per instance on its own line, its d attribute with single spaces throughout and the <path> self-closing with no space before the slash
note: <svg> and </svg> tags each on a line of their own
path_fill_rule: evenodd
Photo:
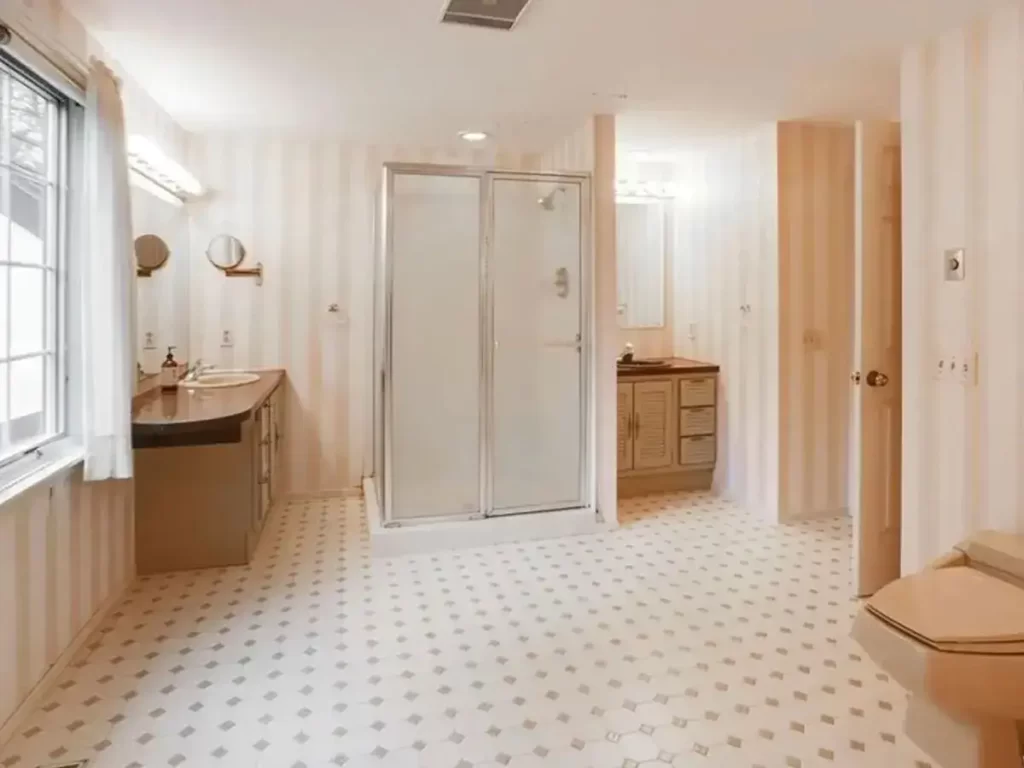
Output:
<svg viewBox="0 0 1024 768">
<path fill-rule="evenodd" d="M 846 511 L 853 370 L 854 128 L 780 123 L 779 511 Z"/>
</svg>

